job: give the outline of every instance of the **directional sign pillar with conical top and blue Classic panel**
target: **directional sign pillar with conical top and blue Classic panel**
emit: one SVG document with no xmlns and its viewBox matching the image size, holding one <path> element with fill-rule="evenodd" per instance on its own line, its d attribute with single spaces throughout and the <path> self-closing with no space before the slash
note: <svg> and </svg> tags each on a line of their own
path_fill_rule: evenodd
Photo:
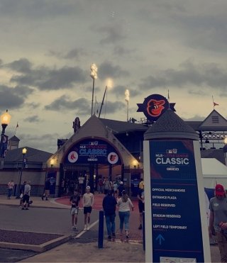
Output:
<svg viewBox="0 0 227 263">
<path fill-rule="evenodd" d="M 198 135 L 167 110 L 144 138 L 146 262 L 211 262 Z"/>
</svg>

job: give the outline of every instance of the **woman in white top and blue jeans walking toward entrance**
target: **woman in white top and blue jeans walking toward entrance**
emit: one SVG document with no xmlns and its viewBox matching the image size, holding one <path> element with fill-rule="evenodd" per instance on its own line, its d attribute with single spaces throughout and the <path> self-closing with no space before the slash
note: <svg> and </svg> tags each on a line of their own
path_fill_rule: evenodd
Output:
<svg viewBox="0 0 227 263">
<path fill-rule="evenodd" d="M 126 232 L 126 240 L 129 239 L 129 218 L 130 218 L 130 208 L 134 209 L 131 199 L 126 194 L 126 191 L 122 191 L 122 197 L 118 199 L 118 216 L 120 218 L 120 235 L 122 240 L 123 226 Z"/>
</svg>

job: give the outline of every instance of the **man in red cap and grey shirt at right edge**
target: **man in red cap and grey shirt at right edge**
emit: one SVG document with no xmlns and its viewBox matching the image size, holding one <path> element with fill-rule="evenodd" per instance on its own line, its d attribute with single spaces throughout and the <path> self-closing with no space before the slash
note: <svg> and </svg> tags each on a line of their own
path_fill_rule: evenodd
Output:
<svg viewBox="0 0 227 263">
<path fill-rule="evenodd" d="M 215 196 L 210 200 L 209 209 L 209 236 L 212 236 L 214 228 L 221 262 L 227 262 L 227 198 L 221 184 L 215 187 Z"/>
</svg>

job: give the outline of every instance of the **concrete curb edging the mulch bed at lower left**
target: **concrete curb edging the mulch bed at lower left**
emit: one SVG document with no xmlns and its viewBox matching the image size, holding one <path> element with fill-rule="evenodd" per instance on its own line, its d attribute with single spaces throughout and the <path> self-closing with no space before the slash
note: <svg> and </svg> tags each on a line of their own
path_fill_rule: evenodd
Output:
<svg viewBox="0 0 227 263">
<path fill-rule="evenodd" d="M 32 250 L 34 252 L 45 252 L 50 250 L 53 247 L 61 245 L 62 243 L 67 242 L 72 238 L 71 235 L 63 235 L 62 237 L 57 237 L 54 240 L 50 240 L 41 245 L 26 245 L 19 243 L 9 243 L 9 242 L 0 242 L 1 248 L 13 249 L 13 250 Z"/>
</svg>

